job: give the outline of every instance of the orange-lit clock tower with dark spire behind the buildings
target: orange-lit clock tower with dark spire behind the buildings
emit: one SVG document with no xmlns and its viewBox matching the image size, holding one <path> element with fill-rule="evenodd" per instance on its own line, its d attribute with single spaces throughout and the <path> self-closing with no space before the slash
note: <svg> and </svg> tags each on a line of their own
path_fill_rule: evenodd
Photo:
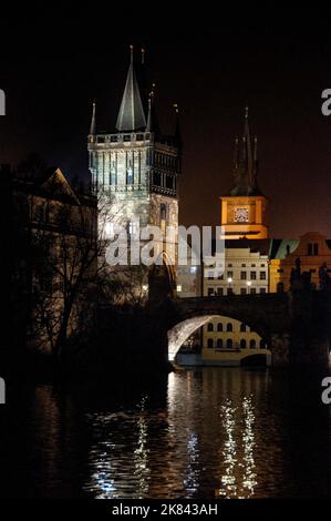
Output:
<svg viewBox="0 0 331 521">
<path fill-rule="evenodd" d="M 268 200 L 258 187 L 258 141 L 251 140 L 248 108 L 242 140 L 236 139 L 234 185 L 220 197 L 223 238 L 268 238 Z"/>
</svg>

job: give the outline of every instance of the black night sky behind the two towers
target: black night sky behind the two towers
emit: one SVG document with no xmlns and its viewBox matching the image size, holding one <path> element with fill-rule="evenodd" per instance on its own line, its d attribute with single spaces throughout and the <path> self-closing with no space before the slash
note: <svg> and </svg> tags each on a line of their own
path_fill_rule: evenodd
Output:
<svg viewBox="0 0 331 521">
<path fill-rule="evenodd" d="M 331 237 L 331 116 L 321 113 L 321 92 L 331 89 L 331 10 L 247 11 L 238 3 L 218 12 L 206 3 L 179 13 L 169 3 L 137 3 L 138 11 L 112 2 L 110 10 L 95 3 L 1 18 L 0 163 L 35 151 L 86 177 L 91 102 L 96 98 L 99 127 L 112 131 L 128 45 L 144 44 L 165 132 L 172 103 L 180 106 L 180 223 L 219 223 L 248 104 L 271 234 Z"/>
</svg>

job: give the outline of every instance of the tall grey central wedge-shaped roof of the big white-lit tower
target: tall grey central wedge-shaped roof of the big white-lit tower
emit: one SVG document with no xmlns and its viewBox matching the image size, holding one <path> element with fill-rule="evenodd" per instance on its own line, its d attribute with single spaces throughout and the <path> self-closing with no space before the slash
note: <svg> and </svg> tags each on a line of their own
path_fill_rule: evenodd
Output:
<svg viewBox="0 0 331 521">
<path fill-rule="evenodd" d="M 146 127 L 139 86 L 134 70 L 133 45 L 130 45 L 130 53 L 131 62 L 116 123 L 116 129 L 120 132 L 133 132 Z"/>
</svg>

